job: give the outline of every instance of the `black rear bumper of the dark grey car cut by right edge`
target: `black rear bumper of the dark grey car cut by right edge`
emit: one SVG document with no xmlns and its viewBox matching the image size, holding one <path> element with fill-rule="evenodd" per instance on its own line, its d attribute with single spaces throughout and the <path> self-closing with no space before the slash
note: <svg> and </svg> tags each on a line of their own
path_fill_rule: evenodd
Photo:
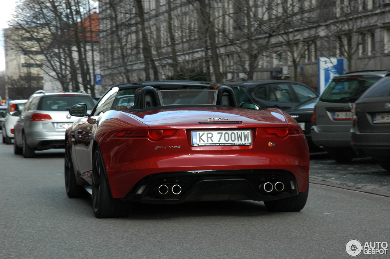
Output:
<svg viewBox="0 0 390 259">
<path fill-rule="evenodd" d="M 360 155 L 377 160 L 390 159 L 390 133 L 351 132 L 351 145 Z"/>
</svg>

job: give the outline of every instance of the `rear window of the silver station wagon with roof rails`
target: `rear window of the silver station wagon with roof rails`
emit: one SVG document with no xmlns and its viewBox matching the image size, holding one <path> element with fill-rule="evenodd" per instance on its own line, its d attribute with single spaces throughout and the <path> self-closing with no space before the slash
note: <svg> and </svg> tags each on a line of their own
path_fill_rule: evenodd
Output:
<svg viewBox="0 0 390 259">
<path fill-rule="evenodd" d="M 44 96 L 39 101 L 39 111 L 67 111 L 75 104 L 87 104 L 87 109 L 94 107 L 94 101 L 89 96 L 67 95 L 67 96 Z"/>
</svg>

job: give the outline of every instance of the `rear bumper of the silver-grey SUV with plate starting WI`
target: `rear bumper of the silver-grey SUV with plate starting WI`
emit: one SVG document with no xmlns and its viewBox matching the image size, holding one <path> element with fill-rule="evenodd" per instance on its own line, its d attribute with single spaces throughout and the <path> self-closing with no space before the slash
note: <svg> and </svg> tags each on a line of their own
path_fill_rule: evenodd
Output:
<svg viewBox="0 0 390 259">
<path fill-rule="evenodd" d="M 312 141 L 317 146 L 350 147 L 350 132 L 320 132 L 316 126 L 312 127 Z"/>
</svg>

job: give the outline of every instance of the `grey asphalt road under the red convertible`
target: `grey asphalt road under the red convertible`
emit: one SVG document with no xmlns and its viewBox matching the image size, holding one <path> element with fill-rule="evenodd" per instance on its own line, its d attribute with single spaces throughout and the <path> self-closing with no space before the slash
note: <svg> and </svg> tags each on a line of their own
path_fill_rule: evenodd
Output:
<svg viewBox="0 0 390 259">
<path fill-rule="evenodd" d="M 63 164 L 64 150 L 24 159 L 0 144 L 0 259 L 340 259 L 351 239 L 390 244 L 390 198 L 315 184 L 294 213 L 253 201 L 135 204 L 128 218 L 97 219 L 90 198 L 66 196 Z"/>
</svg>

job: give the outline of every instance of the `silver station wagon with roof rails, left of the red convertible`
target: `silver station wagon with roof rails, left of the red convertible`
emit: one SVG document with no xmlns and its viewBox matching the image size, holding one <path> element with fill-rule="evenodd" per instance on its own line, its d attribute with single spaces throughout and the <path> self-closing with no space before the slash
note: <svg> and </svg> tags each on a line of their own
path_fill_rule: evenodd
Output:
<svg viewBox="0 0 390 259">
<path fill-rule="evenodd" d="M 65 130 L 78 118 L 69 115 L 74 104 L 94 101 L 86 93 L 45 93 L 40 90 L 28 98 L 15 124 L 14 153 L 34 157 L 35 150 L 65 147 Z"/>
</svg>

